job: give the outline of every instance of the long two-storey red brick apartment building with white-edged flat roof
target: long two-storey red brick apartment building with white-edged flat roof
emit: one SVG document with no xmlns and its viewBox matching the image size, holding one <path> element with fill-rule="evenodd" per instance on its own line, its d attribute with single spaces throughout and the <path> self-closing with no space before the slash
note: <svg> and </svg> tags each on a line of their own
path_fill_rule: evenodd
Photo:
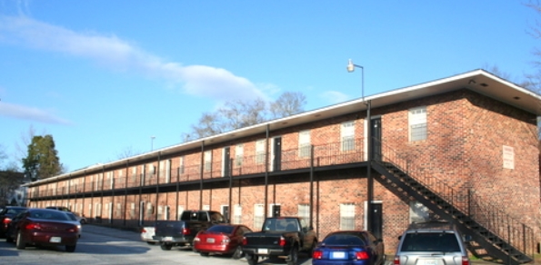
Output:
<svg viewBox="0 0 541 265">
<path fill-rule="evenodd" d="M 123 227 L 185 209 L 255 230 L 300 215 L 320 239 L 370 226 L 388 253 L 436 217 L 477 256 L 522 263 L 540 240 L 540 100 L 476 70 L 32 182 L 29 206 Z"/>
</svg>

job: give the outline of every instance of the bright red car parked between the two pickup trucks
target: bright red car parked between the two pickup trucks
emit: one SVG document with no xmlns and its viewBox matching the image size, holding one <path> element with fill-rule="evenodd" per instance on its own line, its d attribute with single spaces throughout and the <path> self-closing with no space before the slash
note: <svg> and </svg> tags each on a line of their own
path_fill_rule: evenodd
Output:
<svg viewBox="0 0 541 265">
<path fill-rule="evenodd" d="M 201 256 L 208 256 L 210 253 L 226 254 L 238 260 L 243 256 L 242 240 L 248 232 L 252 231 L 242 224 L 216 224 L 197 233 L 194 250 Z"/>
</svg>

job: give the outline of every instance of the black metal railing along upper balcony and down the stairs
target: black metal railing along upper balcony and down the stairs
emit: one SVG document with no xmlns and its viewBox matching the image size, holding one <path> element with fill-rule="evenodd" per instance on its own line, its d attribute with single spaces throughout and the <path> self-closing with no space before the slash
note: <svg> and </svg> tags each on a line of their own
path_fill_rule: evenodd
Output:
<svg viewBox="0 0 541 265">
<path fill-rule="evenodd" d="M 400 152 L 396 152 L 382 142 L 376 142 L 381 146 L 381 153 L 376 154 L 376 157 L 382 158 L 384 161 L 394 163 L 403 172 L 414 177 L 418 182 L 422 183 L 431 191 L 444 198 L 460 211 L 474 217 L 476 221 L 482 223 L 486 228 L 501 235 L 503 238 L 509 238 L 518 245 L 524 244 L 523 236 L 515 236 L 517 234 L 533 234 L 531 228 L 524 223 L 518 221 L 517 218 L 510 216 L 500 207 L 488 203 L 485 199 L 472 194 L 467 189 L 456 189 L 448 185 L 446 182 L 452 180 L 445 173 L 440 173 L 440 177 L 436 177 L 436 169 L 428 167 L 419 167 L 414 160 L 408 159 L 407 156 Z M 302 148 L 294 148 L 283 150 L 280 153 L 280 160 L 274 160 L 276 157 L 265 154 L 255 154 L 243 156 L 242 158 L 231 158 L 229 165 L 225 162 L 210 162 L 196 164 L 192 166 L 181 166 L 170 172 L 160 171 L 154 174 L 128 174 L 126 177 L 116 178 L 113 181 L 101 180 L 95 182 L 78 182 L 75 186 L 59 187 L 56 189 L 45 189 L 33 191 L 30 193 L 31 198 L 42 198 L 49 196 L 65 196 L 78 192 L 99 192 L 112 191 L 115 189 L 135 188 L 155 186 L 156 184 L 164 184 L 169 182 L 195 182 L 203 179 L 236 177 L 246 174 L 264 173 L 265 170 L 286 171 L 296 169 L 306 169 L 311 166 L 310 156 L 306 156 L 306 152 Z M 322 145 L 314 146 L 314 166 L 323 167 L 330 165 L 365 162 L 366 150 L 364 139 L 348 140 L 346 142 L 329 142 Z M 267 162 L 268 167 L 265 167 Z M 127 172 L 127 169 L 126 169 Z M 71 181 L 71 180 L 70 180 Z M 66 183 L 70 183 L 66 181 Z M 30 199 L 31 199 L 30 198 Z M 529 239 L 527 239 L 529 240 Z"/>
</svg>

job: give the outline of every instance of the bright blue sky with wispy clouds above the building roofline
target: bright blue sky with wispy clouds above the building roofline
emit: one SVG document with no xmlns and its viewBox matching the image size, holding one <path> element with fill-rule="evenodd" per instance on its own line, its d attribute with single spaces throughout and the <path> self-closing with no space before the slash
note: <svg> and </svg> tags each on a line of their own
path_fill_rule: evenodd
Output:
<svg viewBox="0 0 541 265">
<path fill-rule="evenodd" d="M 181 142 L 227 100 L 306 110 L 496 65 L 535 72 L 525 1 L 0 0 L 0 145 L 52 134 L 68 171 Z M 152 136 L 155 136 L 152 140 Z"/>
</svg>

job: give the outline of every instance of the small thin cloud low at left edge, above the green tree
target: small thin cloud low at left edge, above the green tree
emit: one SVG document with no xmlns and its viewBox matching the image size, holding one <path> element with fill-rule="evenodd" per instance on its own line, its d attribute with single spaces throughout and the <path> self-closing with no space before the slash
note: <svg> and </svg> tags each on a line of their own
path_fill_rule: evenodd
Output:
<svg viewBox="0 0 541 265">
<path fill-rule="evenodd" d="M 0 115 L 40 123 L 69 124 L 70 122 L 38 108 L 0 102 Z"/>
</svg>

